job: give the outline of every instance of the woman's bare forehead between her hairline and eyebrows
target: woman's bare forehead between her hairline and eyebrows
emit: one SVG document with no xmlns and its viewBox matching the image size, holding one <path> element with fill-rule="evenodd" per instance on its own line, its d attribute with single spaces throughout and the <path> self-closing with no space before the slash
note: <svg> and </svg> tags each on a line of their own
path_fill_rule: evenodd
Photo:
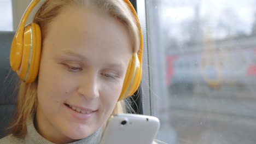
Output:
<svg viewBox="0 0 256 144">
<path fill-rule="evenodd" d="M 67 7 L 53 19 L 44 45 L 55 52 L 70 49 L 120 57 L 132 53 L 130 35 L 123 23 L 97 10 L 78 7 Z"/>
</svg>

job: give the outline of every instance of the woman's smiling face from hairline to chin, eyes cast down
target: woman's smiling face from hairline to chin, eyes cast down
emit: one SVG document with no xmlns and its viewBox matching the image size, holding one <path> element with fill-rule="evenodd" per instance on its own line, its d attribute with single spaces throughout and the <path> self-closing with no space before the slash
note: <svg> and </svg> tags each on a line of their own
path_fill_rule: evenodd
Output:
<svg viewBox="0 0 256 144">
<path fill-rule="evenodd" d="M 47 30 L 36 127 L 52 142 L 83 139 L 117 103 L 132 54 L 129 32 L 107 14 L 77 7 L 62 10 Z"/>
</svg>

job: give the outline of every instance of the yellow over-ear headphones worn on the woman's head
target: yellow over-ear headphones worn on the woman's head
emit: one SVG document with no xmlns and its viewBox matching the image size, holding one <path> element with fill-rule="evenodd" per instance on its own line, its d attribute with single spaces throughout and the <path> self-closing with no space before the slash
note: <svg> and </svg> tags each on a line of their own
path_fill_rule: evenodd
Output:
<svg viewBox="0 0 256 144">
<path fill-rule="evenodd" d="M 16 71 L 20 79 L 26 83 L 33 82 L 39 70 L 40 53 L 41 53 L 41 31 L 37 23 L 30 23 L 25 26 L 28 16 L 32 9 L 40 0 L 33 0 L 28 5 L 22 16 L 20 25 L 14 35 L 10 50 L 10 66 Z M 123 89 L 118 100 L 131 96 L 139 87 L 142 77 L 142 54 L 143 54 L 143 37 L 139 19 L 135 9 L 129 0 L 123 0 L 131 9 L 135 16 L 137 27 L 139 29 L 140 47 L 136 54 L 133 54 L 126 71 Z"/>
</svg>

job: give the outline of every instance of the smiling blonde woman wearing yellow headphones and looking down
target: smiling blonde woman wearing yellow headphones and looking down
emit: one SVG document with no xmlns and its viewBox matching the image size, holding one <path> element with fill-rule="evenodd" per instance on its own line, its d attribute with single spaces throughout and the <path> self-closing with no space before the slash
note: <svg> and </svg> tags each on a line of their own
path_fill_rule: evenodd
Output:
<svg viewBox="0 0 256 144">
<path fill-rule="evenodd" d="M 124 110 L 122 99 L 141 81 L 143 42 L 134 9 L 123 0 L 46 0 L 33 22 L 39 27 L 25 32 L 20 24 L 24 42 L 17 42 L 19 29 L 13 40 L 11 67 L 25 82 L 10 135 L 0 143 L 98 143 L 109 116 Z M 29 32 L 39 38 L 27 40 Z M 23 52 L 31 61 L 16 64 L 14 49 L 22 43 L 39 48 Z M 21 74 L 27 67 L 32 72 Z"/>
</svg>

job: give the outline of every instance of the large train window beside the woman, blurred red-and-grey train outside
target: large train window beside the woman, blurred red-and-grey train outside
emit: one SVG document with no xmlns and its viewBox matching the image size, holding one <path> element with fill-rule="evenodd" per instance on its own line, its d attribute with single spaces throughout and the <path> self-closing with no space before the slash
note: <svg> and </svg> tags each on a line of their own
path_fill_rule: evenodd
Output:
<svg viewBox="0 0 256 144">
<path fill-rule="evenodd" d="M 158 139 L 255 143 L 256 1 L 146 0 Z"/>
</svg>

